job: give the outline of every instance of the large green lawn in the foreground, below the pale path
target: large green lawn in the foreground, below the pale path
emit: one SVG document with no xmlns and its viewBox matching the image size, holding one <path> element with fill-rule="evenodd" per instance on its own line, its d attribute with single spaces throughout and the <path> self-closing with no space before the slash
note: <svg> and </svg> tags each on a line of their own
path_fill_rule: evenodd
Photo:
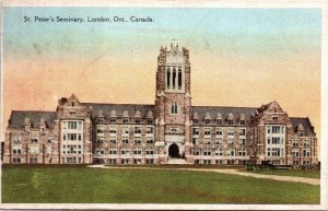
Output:
<svg viewBox="0 0 328 211">
<path fill-rule="evenodd" d="M 4 203 L 319 203 L 319 186 L 178 169 L 2 168 Z"/>
</svg>

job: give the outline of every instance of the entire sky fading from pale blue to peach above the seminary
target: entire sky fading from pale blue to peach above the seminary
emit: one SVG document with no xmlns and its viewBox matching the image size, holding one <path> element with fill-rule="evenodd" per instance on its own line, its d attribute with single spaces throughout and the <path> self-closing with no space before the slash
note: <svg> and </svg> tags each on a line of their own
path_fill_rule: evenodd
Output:
<svg viewBox="0 0 328 211">
<path fill-rule="evenodd" d="M 150 16 L 150 23 L 24 23 L 24 16 Z M 160 47 L 190 51 L 192 105 L 278 101 L 320 136 L 319 9 L 4 8 L 3 127 L 60 97 L 154 104 Z"/>
</svg>

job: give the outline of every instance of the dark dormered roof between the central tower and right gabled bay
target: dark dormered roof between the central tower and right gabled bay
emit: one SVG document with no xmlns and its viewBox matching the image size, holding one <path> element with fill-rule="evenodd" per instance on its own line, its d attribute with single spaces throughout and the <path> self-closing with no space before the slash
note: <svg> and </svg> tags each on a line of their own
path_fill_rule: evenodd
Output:
<svg viewBox="0 0 328 211">
<path fill-rule="evenodd" d="M 251 114 L 256 114 L 256 107 L 191 106 L 192 115 L 198 113 L 199 119 L 203 119 L 207 113 L 211 115 L 211 119 L 215 119 L 219 113 L 222 115 L 222 119 L 226 119 L 230 113 L 234 115 L 234 119 L 238 119 L 242 114 L 246 119 L 250 119 Z"/>
</svg>

